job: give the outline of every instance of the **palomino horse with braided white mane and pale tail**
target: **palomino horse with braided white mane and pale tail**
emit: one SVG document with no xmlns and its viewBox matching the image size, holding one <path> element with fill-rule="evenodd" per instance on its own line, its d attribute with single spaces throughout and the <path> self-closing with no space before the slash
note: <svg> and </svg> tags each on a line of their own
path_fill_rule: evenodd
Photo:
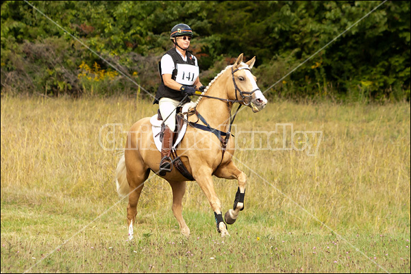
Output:
<svg viewBox="0 0 411 274">
<path fill-rule="evenodd" d="M 246 184 L 245 173 L 232 162 L 235 151 L 234 136 L 230 137 L 234 120 L 231 115 L 232 106 L 238 102 L 240 105 L 251 107 L 253 112 L 258 112 L 267 103 L 256 84 L 256 77 L 251 74 L 255 61 L 256 57 L 243 63 L 240 54 L 232 66 L 227 66 L 210 82 L 197 100 L 195 107 L 197 111 L 192 116 L 188 116 L 191 125 L 201 125 L 203 129 L 188 126 L 186 135 L 177 147 L 177 155 L 206 194 L 214 210 L 216 229 L 221 236 L 227 236 L 229 233 L 221 214 L 221 202 L 214 191 L 212 175 L 238 180 L 234 208 L 225 213 L 225 221 L 232 224 L 236 221 L 240 210 L 244 208 Z M 204 130 L 206 128 L 204 125 L 211 130 Z M 225 139 L 222 136 L 225 136 Z M 159 163 L 160 151 L 155 147 L 150 118 L 147 117 L 132 125 L 127 136 L 124 155 L 116 169 L 117 192 L 123 197 L 129 195 L 127 225 L 130 240 L 133 238 L 133 225 L 136 223 L 137 203 L 142 187 L 149 177 L 150 170 L 158 174 Z M 172 209 L 179 223 L 180 232 L 189 236 L 190 229 L 182 216 L 182 199 L 186 191 L 187 179 L 177 169 L 166 173 L 164 179 L 169 182 L 173 190 Z"/>
</svg>

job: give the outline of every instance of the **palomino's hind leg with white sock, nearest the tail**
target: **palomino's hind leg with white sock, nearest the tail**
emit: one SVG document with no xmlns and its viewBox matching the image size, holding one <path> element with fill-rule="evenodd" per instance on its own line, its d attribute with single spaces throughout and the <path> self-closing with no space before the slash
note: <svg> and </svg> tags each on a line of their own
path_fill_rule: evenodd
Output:
<svg viewBox="0 0 411 274">
<path fill-rule="evenodd" d="M 140 194 L 144 182 L 149 177 L 150 170 L 137 169 L 127 171 L 127 181 L 129 182 L 129 203 L 127 205 L 127 227 L 129 240 L 134 236 L 133 225 L 136 223 L 137 203 L 140 199 Z"/>
</svg>

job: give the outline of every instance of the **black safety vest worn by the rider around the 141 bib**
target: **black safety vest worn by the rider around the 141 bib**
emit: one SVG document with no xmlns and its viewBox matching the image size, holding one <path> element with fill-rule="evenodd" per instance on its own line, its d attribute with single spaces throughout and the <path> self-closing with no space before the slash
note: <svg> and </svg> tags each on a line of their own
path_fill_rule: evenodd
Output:
<svg viewBox="0 0 411 274">
<path fill-rule="evenodd" d="M 179 55 L 179 53 L 177 53 L 177 49 L 175 48 L 169 49 L 169 51 L 167 51 L 165 54 L 171 55 L 171 58 L 173 58 L 174 61 L 175 69 L 173 70 L 173 74 L 171 75 L 171 79 L 173 80 L 175 80 L 175 77 L 177 75 L 177 64 L 190 64 L 192 66 L 195 66 L 195 58 L 192 58 L 192 53 L 190 51 L 186 51 L 187 61 L 183 60 L 182 55 Z M 184 92 L 180 90 L 173 90 L 164 85 L 161 73 L 161 60 L 158 62 L 158 73 L 160 73 L 161 84 L 158 87 L 157 92 L 155 93 L 155 99 L 153 103 L 158 103 L 158 101 L 162 99 L 162 97 L 182 101 L 182 99 L 184 99 L 184 97 L 186 96 Z M 186 101 L 190 101 L 190 98 L 187 98 Z"/>
</svg>

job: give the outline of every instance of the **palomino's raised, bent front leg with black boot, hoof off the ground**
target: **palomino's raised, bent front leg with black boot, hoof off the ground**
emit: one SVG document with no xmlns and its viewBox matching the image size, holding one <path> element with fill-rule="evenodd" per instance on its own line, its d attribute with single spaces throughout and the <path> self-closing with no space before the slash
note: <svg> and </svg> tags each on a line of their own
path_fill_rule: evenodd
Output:
<svg viewBox="0 0 411 274">
<path fill-rule="evenodd" d="M 225 222 L 232 225 L 237 220 L 240 211 L 244 210 L 245 184 L 247 182 L 247 177 L 232 161 L 229 161 L 224 166 L 220 166 L 219 169 L 214 172 L 214 175 L 219 178 L 238 180 L 238 190 L 236 192 L 236 198 L 234 199 L 234 207 L 225 212 L 224 215 Z"/>
</svg>

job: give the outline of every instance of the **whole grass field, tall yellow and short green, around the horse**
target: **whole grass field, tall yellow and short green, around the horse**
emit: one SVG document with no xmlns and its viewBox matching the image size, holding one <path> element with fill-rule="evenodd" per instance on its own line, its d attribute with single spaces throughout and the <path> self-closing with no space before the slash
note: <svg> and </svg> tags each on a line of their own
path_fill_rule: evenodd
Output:
<svg viewBox="0 0 411 274">
<path fill-rule="evenodd" d="M 180 235 L 171 188 L 151 173 L 127 241 L 113 148 L 122 147 L 121 129 L 156 107 L 124 98 L 1 98 L 2 273 L 410 273 L 409 103 L 282 101 L 258 114 L 242 110 L 237 137 L 255 149 L 234 155 L 248 181 L 231 236 L 217 234 L 195 182 L 184 197 L 191 236 Z M 101 141 L 108 124 L 116 124 L 114 142 Z M 291 139 L 282 126 L 273 133 L 285 124 L 322 136 Z M 239 131 L 271 132 L 311 150 L 256 149 L 264 138 Z M 214 185 L 225 212 L 236 181 Z"/>
</svg>

